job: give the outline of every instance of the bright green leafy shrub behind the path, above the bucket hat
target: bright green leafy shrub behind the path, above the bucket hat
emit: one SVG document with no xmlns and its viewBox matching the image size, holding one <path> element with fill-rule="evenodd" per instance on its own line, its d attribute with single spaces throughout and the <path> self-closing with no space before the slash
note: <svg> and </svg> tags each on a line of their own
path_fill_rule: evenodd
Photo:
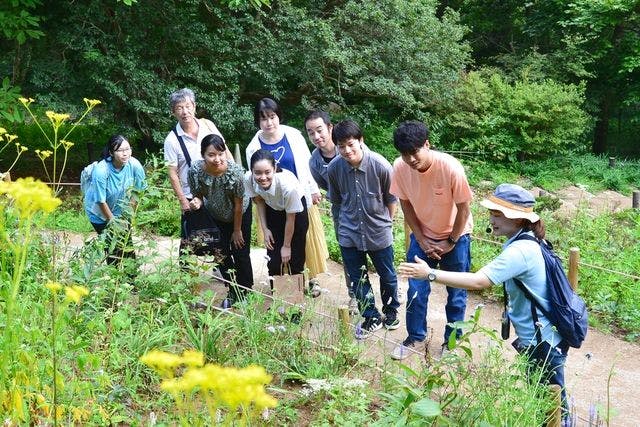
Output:
<svg viewBox="0 0 640 427">
<path fill-rule="evenodd" d="M 471 72 L 458 86 L 441 139 L 510 162 L 584 149 L 583 93 L 583 86 L 552 80 L 510 84 L 497 73 Z"/>
</svg>

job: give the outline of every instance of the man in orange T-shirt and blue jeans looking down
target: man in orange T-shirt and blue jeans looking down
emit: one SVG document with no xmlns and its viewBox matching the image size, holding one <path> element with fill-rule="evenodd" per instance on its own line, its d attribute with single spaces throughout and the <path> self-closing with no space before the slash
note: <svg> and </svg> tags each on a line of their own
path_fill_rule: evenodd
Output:
<svg viewBox="0 0 640 427">
<path fill-rule="evenodd" d="M 429 266 L 447 271 L 469 271 L 473 228 L 470 204 L 473 193 L 464 168 L 454 157 L 431 149 L 429 129 L 418 121 L 400 123 L 393 143 L 401 158 L 393 164 L 391 193 L 400 199 L 404 218 L 411 228 L 407 261 L 415 257 Z M 407 338 L 391 353 L 396 360 L 424 350 L 430 282 L 435 277 L 409 279 L 407 292 Z M 467 292 L 447 287 L 447 323 L 464 320 Z M 443 351 L 453 328 L 446 326 Z M 460 335 L 461 331 L 456 333 Z"/>
</svg>

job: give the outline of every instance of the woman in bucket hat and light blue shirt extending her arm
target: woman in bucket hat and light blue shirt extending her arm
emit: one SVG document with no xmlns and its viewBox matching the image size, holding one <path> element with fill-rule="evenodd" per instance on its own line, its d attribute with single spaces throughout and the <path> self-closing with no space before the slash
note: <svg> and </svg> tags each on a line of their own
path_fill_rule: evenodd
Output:
<svg viewBox="0 0 640 427">
<path fill-rule="evenodd" d="M 531 302 L 514 282 L 514 279 L 522 282 L 548 310 L 545 264 L 540 245 L 533 240 L 518 239 L 522 233 L 538 239 L 545 237 L 544 223 L 533 211 L 535 198 L 518 185 L 500 184 L 480 204 L 489 209 L 493 234 L 507 238 L 500 255 L 475 273 L 434 270 L 417 257 L 415 263 L 400 264 L 398 272 L 402 276 L 428 278 L 431 282 L 468 290 L 504 283 L 509 301 L 509 319 L 518 336 L 513 346 L 519 353 L 526 355 L 533 365 L 542 369 L 541 382 L 557 384 L 562 388 L 566 413 L 564 364 L 567 347 L 560 343 L 561 336 L 539 310 L 538 324 L 534 326 Z M 541 342 L 536 338 L 536 328 L 539 329 Z"/>
</svg>

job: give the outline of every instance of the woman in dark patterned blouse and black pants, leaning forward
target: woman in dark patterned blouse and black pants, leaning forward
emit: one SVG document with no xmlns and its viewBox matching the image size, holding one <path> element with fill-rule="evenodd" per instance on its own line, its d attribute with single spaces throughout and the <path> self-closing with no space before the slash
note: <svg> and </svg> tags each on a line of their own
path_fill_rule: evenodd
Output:
<svg viewBox="0 0 640 427">
<path fill-rule="evenodd" d="M 196 160 L 189 169 L 193 194 L 189 203 L 193 210 L 204 206 L 220 229 L 223 260 L 218 267 L 222 277 L 232 283 L 223 301 L 223 308 L 228 308 L 253 287 L 251 206 L 244 189 L 244 170 L 228 160 L 224 140 L 219 135 L 207 135 L 200 147 L 204 160 Z M 230 270 L 235 270 L 235 274 Z"/>
</svg>

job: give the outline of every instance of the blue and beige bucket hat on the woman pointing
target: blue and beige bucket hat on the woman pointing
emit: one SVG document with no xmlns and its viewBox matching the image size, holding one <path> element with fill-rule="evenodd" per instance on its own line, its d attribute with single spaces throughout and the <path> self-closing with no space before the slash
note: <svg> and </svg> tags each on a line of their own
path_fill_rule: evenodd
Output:
<svg viewBox="0 0 640 427">
<path fill-rule="evenodd" d="M 538 222 L 540 217 L 533 212 L 536 198 L 533 194 L 515 184 L 500 184 L 493 194 L 480 204 L 487 209 L 500 211 L 509 219 L 523 218 Z"/>
</svg>

